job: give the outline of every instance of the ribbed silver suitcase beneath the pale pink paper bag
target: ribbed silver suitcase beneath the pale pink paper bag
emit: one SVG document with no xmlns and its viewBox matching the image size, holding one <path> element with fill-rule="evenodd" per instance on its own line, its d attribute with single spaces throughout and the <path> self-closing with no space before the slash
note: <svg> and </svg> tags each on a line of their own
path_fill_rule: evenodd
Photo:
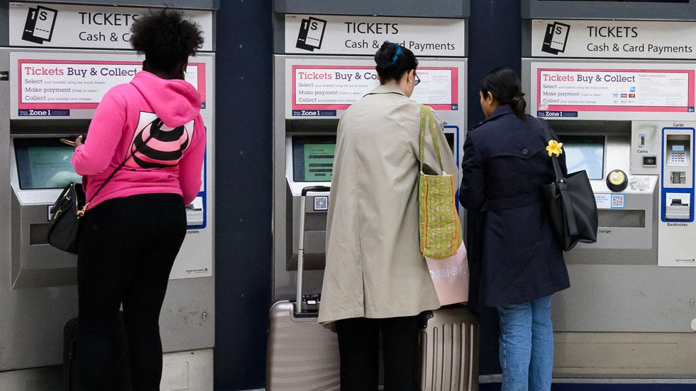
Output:
<svg viewBox="0 0 696 391">
<path fill-rule="evenodd" d="M 464 306 L 422 314 L 421 390 L 478 391 L 478 320 Z"/>
</svg>

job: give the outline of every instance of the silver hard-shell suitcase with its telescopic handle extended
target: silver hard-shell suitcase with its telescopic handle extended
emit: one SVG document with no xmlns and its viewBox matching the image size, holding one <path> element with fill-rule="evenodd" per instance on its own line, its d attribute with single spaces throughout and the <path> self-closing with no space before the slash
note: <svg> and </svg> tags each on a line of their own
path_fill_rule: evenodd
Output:
<svg viewBox="0 0 696 391">
<path fill-rule="evenodd" d="M 295 303 L 279 301 L 270 309 L 266 365 L 268 391 L 328 391 L 341 388 L 337 335 L 317 323 L 320 296 L 302 295 L 305 201 L 309 192 L 327 193 L 329 187 L 302 189 L 297 298 Z"/>
</svg>

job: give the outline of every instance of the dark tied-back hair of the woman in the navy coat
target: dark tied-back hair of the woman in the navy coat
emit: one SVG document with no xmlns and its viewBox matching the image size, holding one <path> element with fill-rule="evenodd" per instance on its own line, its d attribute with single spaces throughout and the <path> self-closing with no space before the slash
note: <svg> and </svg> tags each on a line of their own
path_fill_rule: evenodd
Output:
<svg viewBox="0 0 696 391">
<path fill-rule="evenodd" d="M 522 93 L 522 83 L 512 69 L 496 68 L 486 73 L 478 83 L 478 89 L 484 98 L 491 93 L 500 105 L 510 105 L 519 118 L 526 118 L 524 110 L 527 108 L 527 102 Z"/>
</svg>

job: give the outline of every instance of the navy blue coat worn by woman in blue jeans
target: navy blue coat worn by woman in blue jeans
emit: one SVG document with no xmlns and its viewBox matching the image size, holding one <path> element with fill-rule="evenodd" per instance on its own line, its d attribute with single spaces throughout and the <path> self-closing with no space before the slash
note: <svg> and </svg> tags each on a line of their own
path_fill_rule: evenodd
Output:
<svg viewBox="0 0 696 391">
<path fill-rule="evenodd" d="M 459 200 L 468 212 L 474 307 L 524 303 L 570 286 L 541 201 L 541 186 L 553 182 L 546 145 L 541 123 L 522 120 L 510 105 L 466 135 Z"/>
</svg>

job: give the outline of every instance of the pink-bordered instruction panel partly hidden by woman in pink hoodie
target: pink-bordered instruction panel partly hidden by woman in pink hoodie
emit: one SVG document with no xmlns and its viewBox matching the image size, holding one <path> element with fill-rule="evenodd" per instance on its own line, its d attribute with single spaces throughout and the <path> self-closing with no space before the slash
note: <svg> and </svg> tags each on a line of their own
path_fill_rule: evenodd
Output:
<svg viewBox="0 0 696 391">
<path fill-rule="evenodd" d="M 135 54 L 11 53 L 12 118 L 81 118 L 108 90 L 128 83 L 142 70 Z M 205 109 L 206 62 L 193 59 L 185 80 L 201 94 Z"/>
</svg>

